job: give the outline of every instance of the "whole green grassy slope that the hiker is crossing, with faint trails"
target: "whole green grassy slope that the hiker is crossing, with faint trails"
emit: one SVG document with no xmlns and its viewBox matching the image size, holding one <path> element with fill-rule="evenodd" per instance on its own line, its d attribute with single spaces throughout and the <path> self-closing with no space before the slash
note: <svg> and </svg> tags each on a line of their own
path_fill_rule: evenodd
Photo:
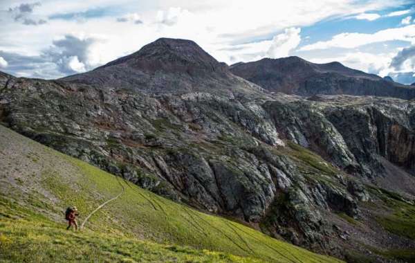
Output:
<svg viewBox="0 0 415 263">
<path fill-rule="evenodd" d="M 12 260 L 37 251 L 39 259 L 79 256 L 85 261 L 243 261 L 233 254 L 251 257 L 244 259 L 248 262 L 338 262 L 158 197 L 1 126 L 0 170 L 0 255 Z M 82 233 L 64 230 L 67 206 L 76 205 L 83 221 L 122 185 L 124 194 L 93 215 Z M 18 247 L 24 247 L 23 253 L 12 253 Z M 69 248 L 80 249 L 82 255 Z"/>
</svg>

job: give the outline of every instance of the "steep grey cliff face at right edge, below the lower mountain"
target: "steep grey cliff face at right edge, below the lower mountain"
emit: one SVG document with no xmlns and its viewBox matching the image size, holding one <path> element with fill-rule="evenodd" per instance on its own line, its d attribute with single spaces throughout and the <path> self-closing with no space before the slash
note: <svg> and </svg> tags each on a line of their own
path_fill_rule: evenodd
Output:
<svg viewBox="0 0 415 263">
<path fill-rule="evenodd" d="M 289 140 L 342 170 L 374 178 L 385 174 L 380 158 L 415 172 L 414 105 L 390 98 L 315 96 L 268 101 L 264 107 Z"/>
</svg>

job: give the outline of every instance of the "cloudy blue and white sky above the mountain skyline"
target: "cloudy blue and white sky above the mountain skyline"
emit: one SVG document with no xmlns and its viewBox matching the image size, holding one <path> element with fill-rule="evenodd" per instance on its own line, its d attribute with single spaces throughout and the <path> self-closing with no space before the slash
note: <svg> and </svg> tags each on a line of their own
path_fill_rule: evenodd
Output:
<svg viewBox="0 0 415 263">
<path fill-rule="evenodd" d="M 296 55 L 415 82 L 414 0 L 0 0 L 0 71 L 62 78 L 160 37 L 227 64 Z"/>
</svg>

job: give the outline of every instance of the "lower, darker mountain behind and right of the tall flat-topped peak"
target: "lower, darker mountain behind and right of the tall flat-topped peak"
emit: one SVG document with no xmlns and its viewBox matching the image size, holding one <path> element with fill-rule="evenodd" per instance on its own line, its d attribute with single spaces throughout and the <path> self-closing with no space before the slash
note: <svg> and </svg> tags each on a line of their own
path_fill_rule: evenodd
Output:
<svg viewBox="0 0 415 263">
<path fill-rule="evenodd" d="M 415 89 L 410 86 L 349 69 L 339 62 L 315 64 L 299 57 L 265 58 L 234 64 L 230 71 L 268 91 L 299 96 L 346 94 L 415 98 Z"/>
</svg>

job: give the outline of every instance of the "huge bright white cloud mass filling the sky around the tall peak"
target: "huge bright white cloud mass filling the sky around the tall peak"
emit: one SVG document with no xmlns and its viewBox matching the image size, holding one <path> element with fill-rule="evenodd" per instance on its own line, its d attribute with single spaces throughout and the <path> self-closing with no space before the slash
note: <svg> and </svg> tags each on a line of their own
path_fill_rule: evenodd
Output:
<svg viewBox="0 0 415 263">
<path fill-rule="evenodd" d="M 1 9 L 17 6 L 15 0 L 0 2 L 3 7 L 0 12 Z M 56 37 L 84 33 L 89 37 L 99 36 L 106 39 L 105 42 L 91 44 L 86 59 L 78 53 L 66 54 L 66 59 L 76 56 L 77 62 L 84 64 L 86 70 L 138 51 L 158 37 L 192 39 L 216 59 L 227 63 L 248 61 L 266 55 L 291 55 L 300 38 L 295 32 L 288 37 L 285 28 L 299 30 L 323 19 L 356 14 L 367 14 L 374 18 L 375 12 L 385 8 L 397 8 L 401 3 L 402 0 L 143 0 L 138 6 L 136 0 L 102 0 L 99 5 L 93 0 L 42 0 L 42 5 L 36 6 L 28 18 L 39 21 L 57 13 L 86 13 L 86 10 L 98 7 L 105 15 L 93 19 L 85 18 L 84 24 L 78 23 L 77 19 L 50 19 L 42 26 L 30 27 L 21 25 L 22 21 L 17 23 L 10 15 L 1 17 L 0 50 L 39 57 L 48 46 L 54 46 Z M 117 19 L 127 21 L 115 23 Z M 145 23 L 137 26 L 135 21 L 138 20 Z M 16 35 L 25 37 L 17 38 Z M 274 35 L 282 36 L 272 39 Z M 314 36 L 311 39 L 315 39 Z M 75 59 L 67 62 L 70 61 L 73 64 L 66 64 L 66 72 L 82 69 L 82 65 L 74 62 Z M 24 71 L 24 59 L 19 60 L 19 65 L 17 62 L 8 62 L 9 65 L 13 64 L 13 71 L 10 73 L 29 72 Z M 36 62 L 31 63 L 35 65 Z M 50 72 L 53 71 L 52 63 L 58 62 L 51 61 L 48 64 Z M 43 74 L 43 69 L 44 67 L 39 66 L 39 75 Z M 62 73 L 62 76 L 64 74 L 67 73 Z M 55 76 L 57 73 L 48 75 Z"/>
</svg>

